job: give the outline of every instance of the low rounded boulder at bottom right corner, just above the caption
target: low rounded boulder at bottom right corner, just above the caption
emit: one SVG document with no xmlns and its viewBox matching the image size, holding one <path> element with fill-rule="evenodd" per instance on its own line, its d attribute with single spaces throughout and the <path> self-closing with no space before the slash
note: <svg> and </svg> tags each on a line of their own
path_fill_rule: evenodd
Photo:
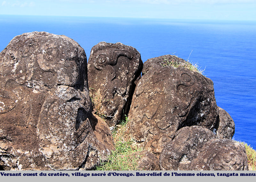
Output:
<svg viewBox="0 0 256 182">
<path fill-rule="evenodd" d="M 245 146 L 230 139 L 212 139 L 192 160 L 189 170 L 248 170 Z"/>
</svg>

